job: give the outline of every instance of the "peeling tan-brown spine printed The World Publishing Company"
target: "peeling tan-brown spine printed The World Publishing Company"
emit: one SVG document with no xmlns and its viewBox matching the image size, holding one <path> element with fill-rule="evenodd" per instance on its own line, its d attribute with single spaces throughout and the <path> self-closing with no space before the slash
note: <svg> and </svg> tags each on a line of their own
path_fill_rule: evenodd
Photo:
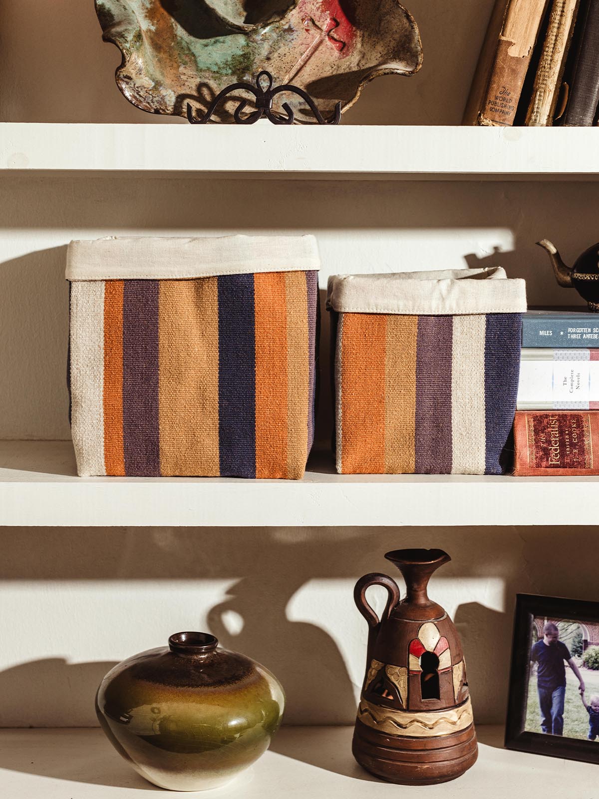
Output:
<svg viewBox="0 0 599 799">
<path fill-rule="evenodd" d="M 547 0 L 504 0 L 503 6 L 502 26 L 498 37 L 493 40 L 494 55 L 488 69 L 488 79 L 485 75 L 482 81 L 485 89 L 476 109 L 475 125 L 514 124 L 522 85 Z M 498 14 L 494 14 L 494 18 L 496 20 Z M 487 31 L 487 37 L 494 34 L 491 27 Z M 487 42 L 483 50 L 486 50 L 486 46 Z M 479 62 L 479 68 L 481 66 Z M 475 83 L 476 80 L 473 82 L 473 89 Z"/>
</svg>

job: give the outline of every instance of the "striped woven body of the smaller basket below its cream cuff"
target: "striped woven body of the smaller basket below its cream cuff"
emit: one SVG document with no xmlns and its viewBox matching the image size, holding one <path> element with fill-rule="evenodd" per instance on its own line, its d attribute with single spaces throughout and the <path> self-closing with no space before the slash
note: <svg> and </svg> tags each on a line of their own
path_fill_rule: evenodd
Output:
<svg viewBox="0 0 599 799">
<path fill-rule="evenodd" d="M 340 313 L 336 330 L 339 473 L 502 474 L 520 313 Z"/>
</svg>

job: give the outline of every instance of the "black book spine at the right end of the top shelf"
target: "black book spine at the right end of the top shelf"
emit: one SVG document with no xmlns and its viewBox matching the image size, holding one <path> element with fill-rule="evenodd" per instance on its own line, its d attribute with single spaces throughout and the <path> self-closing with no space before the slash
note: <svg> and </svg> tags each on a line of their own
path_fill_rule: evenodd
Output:
<svg viewBox="0 0 599 799">
<path fill-rule="evenodd" d="M 590 0 L 582 30 L 572 86 L 565 109 L 566 127 L 589 127 L 599 103 L 599 0 Z"/>
</svg>

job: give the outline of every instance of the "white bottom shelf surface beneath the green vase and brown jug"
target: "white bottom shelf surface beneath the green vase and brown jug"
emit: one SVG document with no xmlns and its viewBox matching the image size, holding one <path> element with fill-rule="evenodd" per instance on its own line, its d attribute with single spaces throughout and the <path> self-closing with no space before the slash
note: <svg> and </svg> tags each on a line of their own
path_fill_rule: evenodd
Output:
<svg viewBox="0 0 599 799">
<path fill-rule="evenodd" d="M 479 727 L 478 761 L 453 782 L 399 787 L 371 777 L 351 755 L 351 727 L 284 727 L 272 748 L 219 799 L 339 796 L 343 799 L 546 799 L 597 797 L 597 765 L 502 748 L 501 727 Z M 100 729 L 0 730 L 0 796 L 4 799 L 142 799 L 157 789 L 119 757 Z M 169 792 L 165 796 L 189 796 Z"/>
</svg>

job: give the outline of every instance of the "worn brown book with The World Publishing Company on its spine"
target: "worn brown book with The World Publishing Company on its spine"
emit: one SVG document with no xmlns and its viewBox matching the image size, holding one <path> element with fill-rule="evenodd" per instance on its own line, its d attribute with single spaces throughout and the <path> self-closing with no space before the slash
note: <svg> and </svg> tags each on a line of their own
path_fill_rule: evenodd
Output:
<svg viewBox="0 0 599 799">
<path fill-rule="evenodd" d="M 514 124 L 546 7 L 547 0 L 497 0 L 462 124 Z"/>
</svg>

